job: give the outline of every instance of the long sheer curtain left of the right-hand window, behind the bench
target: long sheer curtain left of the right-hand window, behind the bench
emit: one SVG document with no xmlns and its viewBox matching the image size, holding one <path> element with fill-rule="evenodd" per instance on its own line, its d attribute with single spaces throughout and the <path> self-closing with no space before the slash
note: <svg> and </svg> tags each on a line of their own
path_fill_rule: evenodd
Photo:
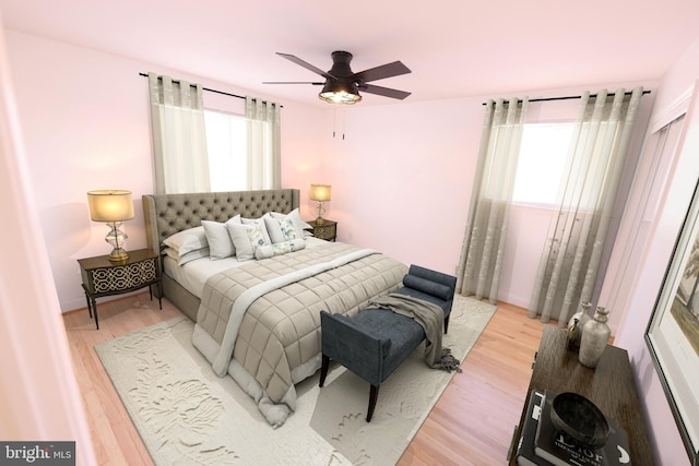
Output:
<svg viewBox="0 0 699 466">
<path fill-rule="evenodd" d="M 457 290 L 497 302 L 517 160 L 529 99 L 488 100 Z"/>
</svg>

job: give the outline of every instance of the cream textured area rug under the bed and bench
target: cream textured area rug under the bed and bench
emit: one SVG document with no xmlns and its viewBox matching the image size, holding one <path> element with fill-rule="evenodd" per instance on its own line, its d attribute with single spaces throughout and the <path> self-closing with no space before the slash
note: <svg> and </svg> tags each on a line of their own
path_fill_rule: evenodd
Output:
<svg viewBox="0 0 699 466">
<path fill-rule="evenodd" d="M 465 359 L 496 307 L 458 296 L 443 346 Z M 429 369 L 424 347 L 381 384 L 367 423 L 369 384 L 331 366 L 297 385 L 298 406 L 273 429 L 229 377 L 218 378 L 177 318 L 95 346 L 157 465 L 395 464 L 455 372 Z"/>
</svg>

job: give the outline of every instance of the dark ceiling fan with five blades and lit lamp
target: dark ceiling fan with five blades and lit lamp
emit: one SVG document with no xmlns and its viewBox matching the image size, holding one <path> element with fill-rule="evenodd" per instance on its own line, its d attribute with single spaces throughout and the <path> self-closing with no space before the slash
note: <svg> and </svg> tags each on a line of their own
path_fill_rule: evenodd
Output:
<svg viewBox="0 0 699 466">
<path fill-rule="evenodd" d="M 312 84 L 317 86 L 322 85 L 323 88 L 320 94 L 318 94 L 318 97 L 330 104 L 356 104 L 357 101 L 362 100 L 359 91 L 380 95 L 383 97 L 398 98 L 401 100 L 411 95 L 411 93 L 405 91 L 398 91 L 389 87 L 377 86 L 375 84 L 367 84 L 371 81 L 384 80 L 387 77 L 393 77 L 401 74 L 410 73 L 411 70 L 400 61 L 394 61 L 392 63 L 382 64 L 380 67 L 354 73 L 350 68 L 352 53 L 350 53 L 348 51 L 337 50 L 332 52 L 332 68 L 330 69 L 330 71 L 323 71 L 319 68 L 316 68 L 312 64 L 293 55 L 281 52 L 276 52 L 276 55 L 289 61 L 293 61 L 294 63 L 299 64 L 316 74 L 323 76 L 325 81 L 275 81 L 265 82 L 264 84 Z"/>
</svg>

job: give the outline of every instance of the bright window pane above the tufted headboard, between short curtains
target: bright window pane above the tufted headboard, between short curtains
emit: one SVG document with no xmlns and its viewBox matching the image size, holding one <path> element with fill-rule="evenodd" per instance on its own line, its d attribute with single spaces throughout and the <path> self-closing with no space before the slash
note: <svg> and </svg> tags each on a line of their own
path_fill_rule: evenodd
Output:
<svg viewBox="0 0 699 466">
<path fill-rule="evenodd" d="M 204 110 L 206 153 L 212 191 L 248 188 L 247 120 L 242 116 Z"/>
</svg>

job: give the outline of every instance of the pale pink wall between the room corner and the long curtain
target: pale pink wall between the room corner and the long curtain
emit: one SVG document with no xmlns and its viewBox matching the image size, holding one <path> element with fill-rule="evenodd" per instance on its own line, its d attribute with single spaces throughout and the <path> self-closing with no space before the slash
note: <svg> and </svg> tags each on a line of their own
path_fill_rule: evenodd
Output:
<svg viewBox="0 0 699 466">
<path fill-rule="evenodd" d="M 329 132 L 323 181 L 333 186 L 328 217 L 340 220 L 340 239 L 453 274 L 481 135 L 481 100 L 337 112 L 343 123 L 334 139 Z"/>
</svg>

